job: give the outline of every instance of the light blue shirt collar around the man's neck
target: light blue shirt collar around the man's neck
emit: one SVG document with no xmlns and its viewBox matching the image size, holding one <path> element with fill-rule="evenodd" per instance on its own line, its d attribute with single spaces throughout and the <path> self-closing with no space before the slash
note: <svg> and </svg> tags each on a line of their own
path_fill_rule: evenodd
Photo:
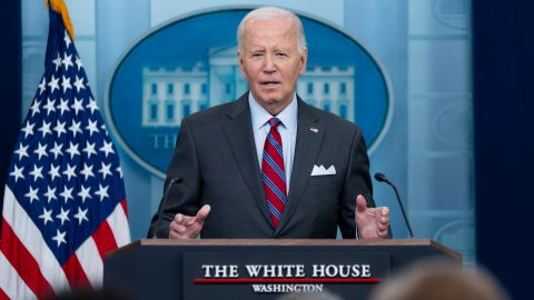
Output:
<svg viewBox="0 0 534 300">
<path fill-rule="evenodd" d="M 256 99 L 254 99 L 251 92 L 248 93 L 248 106 L 250 107 L 254 130 L 263 128 L 273 117 L 278 118 L 289 133 L 293 134 L 297 130 L 298 103 L 296 93 L 293 94 L 291 102 L 277 116 L 271 116 L 266 109 L 264 109 Z"/>
</svg>

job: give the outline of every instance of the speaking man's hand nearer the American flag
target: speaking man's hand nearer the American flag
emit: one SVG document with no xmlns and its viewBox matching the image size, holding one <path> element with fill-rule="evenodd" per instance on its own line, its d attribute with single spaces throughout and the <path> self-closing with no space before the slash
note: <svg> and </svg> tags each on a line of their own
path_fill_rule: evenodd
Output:
<svg viewBox="0 0 534 300">
<path fill-rule="evenodd" d="M 169 224 L 169 239 L 196 239 L 202 230 L 204 220 L 208 218 L 210 210 L 211 207 L 206 204 L 198 210 L 195 217 L 177 213 Z"/>
</svg>

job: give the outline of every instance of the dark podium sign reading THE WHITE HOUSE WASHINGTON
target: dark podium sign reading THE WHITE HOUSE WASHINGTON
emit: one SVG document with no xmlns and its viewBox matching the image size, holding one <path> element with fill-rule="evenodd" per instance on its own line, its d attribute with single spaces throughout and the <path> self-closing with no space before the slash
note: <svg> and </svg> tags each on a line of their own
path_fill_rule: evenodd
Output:
<svg viewBox="0 0 534 300">
<path fill-rule="evenodd" d="M 253 251 L 184 253 L 184 299 L 255 299 L 257 293 L 363 294 L 389 273 L 387 253 Z M 263 296 L 261 299 L 270 297 Z"/>
</svg>

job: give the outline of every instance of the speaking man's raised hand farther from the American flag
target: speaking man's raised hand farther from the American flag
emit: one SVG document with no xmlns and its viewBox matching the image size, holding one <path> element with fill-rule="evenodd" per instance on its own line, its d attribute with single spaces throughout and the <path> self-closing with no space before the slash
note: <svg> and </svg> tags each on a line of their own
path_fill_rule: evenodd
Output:
<svg viewBox="0 0 534 300">
<path fill-rule="evenodd" d="M 389 237 L 389 209 L 387 207 L 368 208 L 365 198 L 358 194 L 355 219 L 362 238 L 385 239 Z"/>
</svg>

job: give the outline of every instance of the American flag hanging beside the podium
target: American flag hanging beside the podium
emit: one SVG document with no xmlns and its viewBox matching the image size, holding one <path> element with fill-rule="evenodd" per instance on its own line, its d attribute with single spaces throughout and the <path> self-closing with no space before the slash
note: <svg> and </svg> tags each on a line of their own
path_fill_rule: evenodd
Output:
<svg viewBox="0 0 534 300">
<path fill-rule="evenodd" d="M 49 14 L 44 74 L 3 196 L 0 299 L 99 287 L 103 256 L 130 241 L 117 150 L 66 29 L 66 11 Z"/>
</svg>

